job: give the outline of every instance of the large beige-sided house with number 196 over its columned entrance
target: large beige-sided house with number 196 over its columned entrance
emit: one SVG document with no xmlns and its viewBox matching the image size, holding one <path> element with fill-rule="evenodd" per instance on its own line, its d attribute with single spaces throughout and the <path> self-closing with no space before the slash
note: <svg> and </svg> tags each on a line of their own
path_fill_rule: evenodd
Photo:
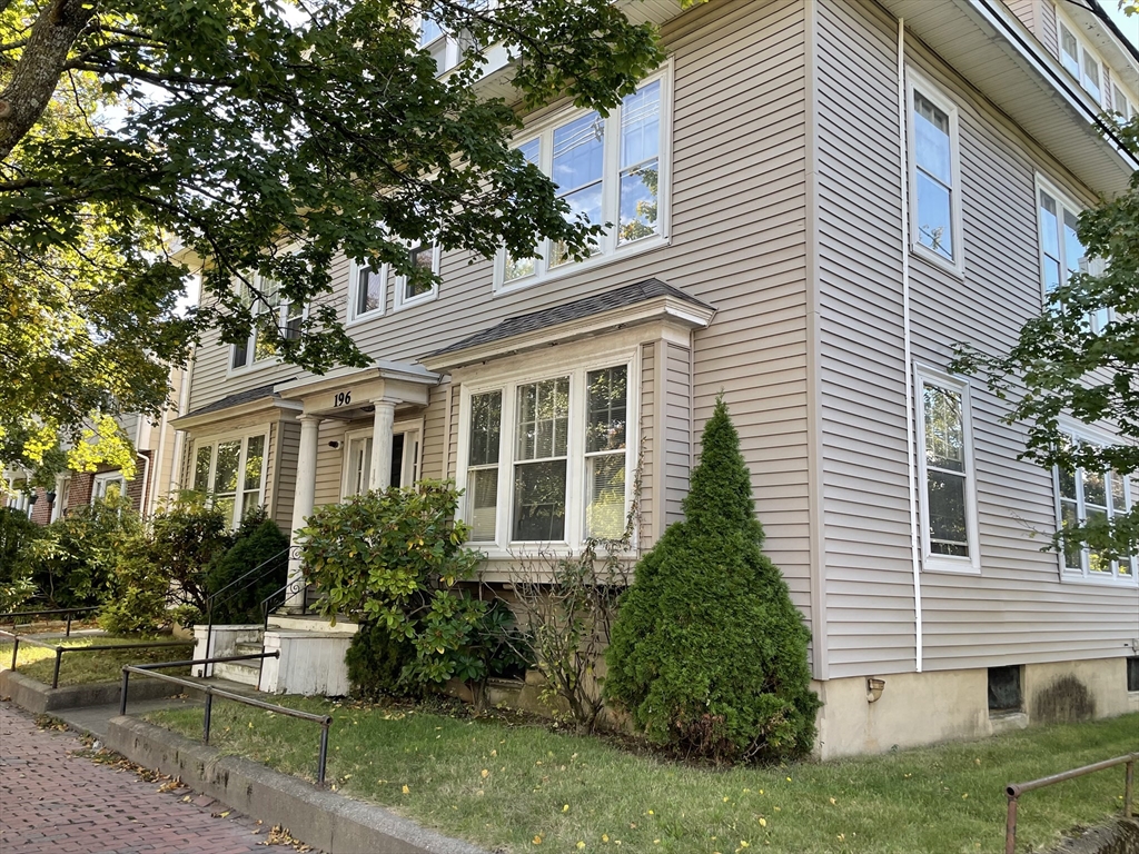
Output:
<svg viewBox="0 0 1139 854">
<path fill-rule="evenodd" d="M 821 755 L 1047 720 L 1067 676 L 1096 715 L 1139 708 L 1134 560 L 1033 537 L 1129 508 L 1133 484 L 1018 460 L 1008 404 L 948 372 L 957 342 L 1009 346 L 1082 263 L 1081 207 L 1126 188 L 1139 164 L 1096 122 L 1134 113 L 1133 49 L 1052 0 L 629 8 L 661 24 L 665 66 L 608 117 L 554 105 L 516 137 L 617 223 L 598 252 L 415 247 L 431 290 L 338 260 L 374 364 L 313 376 L 207 336 L 182 482 L 297 528 L 364 488 L 453 478 L 505 581 L 518 549 L 607 533 L 637 449 L 652 544 L 722 392 L 813 634 Z M 444 65 L 454 41 L 429 46 Z M 481 85 L 509 97 L 493 71 Z"/>
</svg>

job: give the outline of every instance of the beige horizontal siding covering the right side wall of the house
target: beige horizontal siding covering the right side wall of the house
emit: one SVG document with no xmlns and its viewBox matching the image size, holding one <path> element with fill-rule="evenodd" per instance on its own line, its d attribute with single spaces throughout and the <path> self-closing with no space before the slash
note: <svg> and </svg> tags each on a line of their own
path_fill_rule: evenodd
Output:
<svg viewBox="0 0 1139 854">
<path fill-rule="evenodd" d="M 819 219 L 831 678 L 916 664 L 895 36 L 895 22 L 857 0 L 821 8 L 820 80 L 830 77 L 820 84 Z M 907 61 L 959 112 L 965 276 L 910 256 L 912 356 L 945 369 L 957 342 L 1003 352 L 1040 311 L 1035 173 L 1066 172 L 916 40 Z M 847 76 L 859 83 L 843 85 Z M 851 140 L 861 140 L 858 163 Z M 1122 655 L 1139 617 L 1136 590 L 1059 580 L 1056 556 L 1041 551 L 1055 529 L 1051 474 L 1016 459 L 1025 434 L 1001 421 L 1008 403 L 977 380 L 970 402 L 981 573 L 921 573 L 923 668 Z"/>
</svg>

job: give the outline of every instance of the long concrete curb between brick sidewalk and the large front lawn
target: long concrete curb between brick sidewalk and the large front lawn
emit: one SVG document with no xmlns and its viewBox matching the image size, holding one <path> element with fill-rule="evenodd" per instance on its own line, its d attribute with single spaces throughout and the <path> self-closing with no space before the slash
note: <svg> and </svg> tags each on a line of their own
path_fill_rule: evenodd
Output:
<svg viewBox="0 0 1139 854">
<path fill-rule="evenodd" d="M 134 689 L 131 689 L 133 696 Z M 486 854 L 378 806 L 190 741 L 145 721 L 113 717 L 106 746 L 145 767 L 181 778 L 196 791 L 267 824 L 288 828 L 329 854 Z M 316 762 L 313 738 L 313 762 Z"/>
</svg>

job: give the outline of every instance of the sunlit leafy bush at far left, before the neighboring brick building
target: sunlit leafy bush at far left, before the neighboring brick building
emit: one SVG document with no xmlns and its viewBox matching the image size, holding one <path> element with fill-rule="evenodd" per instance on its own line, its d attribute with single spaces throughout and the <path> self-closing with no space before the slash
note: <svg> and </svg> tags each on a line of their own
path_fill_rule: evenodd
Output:
<svg viewBox="0 0 1139 854">
<path fill-rule="evenodd" d="M 77 507 L 43 529 L 32 581 L 55 608 L 101 605 L 112 591 L 116 552 L 142 526 L 125 496 Z"/>
</svg>

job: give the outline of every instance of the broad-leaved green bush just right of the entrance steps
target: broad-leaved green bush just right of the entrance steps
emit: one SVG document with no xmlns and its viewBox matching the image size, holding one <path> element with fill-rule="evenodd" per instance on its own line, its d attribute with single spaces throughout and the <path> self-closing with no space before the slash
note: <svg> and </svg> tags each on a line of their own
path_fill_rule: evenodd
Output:
<svg viewBox="0 0 1139 854">
<path fill-rule="evenodd" d="M 458 586 L 482 558 L 461 545 L 467 527 L 453 520 L 458 501 L 446 483 L 393 486 L 322 507 L 302 532 L 302 560 L 321 592 L 318 610 L 410 643 L 401 690 L 449 679 L 474 684 L 490 672 L 487 606 Z"/>
</svg>

